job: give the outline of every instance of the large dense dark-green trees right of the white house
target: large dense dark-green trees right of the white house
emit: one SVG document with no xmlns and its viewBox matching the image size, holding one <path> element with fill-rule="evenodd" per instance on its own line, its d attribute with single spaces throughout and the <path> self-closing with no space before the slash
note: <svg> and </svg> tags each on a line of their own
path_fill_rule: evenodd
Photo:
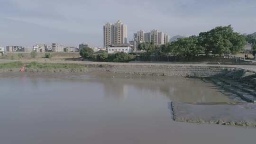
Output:
<svg viewBox="0 0 256 144">
<path fill-rule="evenodd" d="M 246 36 L 234 32 L 231 25 L 227 27 L 215 27 L 210 31 L 201 32 L 198 36 L 179 38 L 175 42 L 157 46 L 154 43 L 141 43 L 138 50 L 145 50 L 146 54 L 190 57 L 197 54 L 236 54 L 246 44 Z"/>
</svg>

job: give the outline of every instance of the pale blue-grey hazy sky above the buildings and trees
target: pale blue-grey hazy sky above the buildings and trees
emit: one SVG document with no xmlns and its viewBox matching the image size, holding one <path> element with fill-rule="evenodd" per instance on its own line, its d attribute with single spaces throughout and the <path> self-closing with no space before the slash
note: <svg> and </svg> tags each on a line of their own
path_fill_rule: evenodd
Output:
<svg viewBox="0 0 256 144">
<path fill-rule="evenodd" d="M 103 25 L 191 36 L 218 26 L 256 32 L 256 0 L 0 0 L 0 45 L 103 46 Z"/>
</svg>

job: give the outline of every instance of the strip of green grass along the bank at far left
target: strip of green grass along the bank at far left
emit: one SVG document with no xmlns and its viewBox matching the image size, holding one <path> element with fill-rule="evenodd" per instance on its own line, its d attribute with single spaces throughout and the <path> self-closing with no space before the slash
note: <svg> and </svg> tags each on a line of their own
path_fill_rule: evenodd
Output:
<svg viewBox="0 0 256 144">
<path fill-rule="evenodd" d="M 23 66 L 25 66 L 26 68 L 35 68 L 35 69 L 81 69 L 81 68 L 84 68 L 84 66 L 81 64 L 73 64 L 73 63 L 37 63 L 37 62 L 0 63 L 0 69 L 21 68 Z"/>
</svg>

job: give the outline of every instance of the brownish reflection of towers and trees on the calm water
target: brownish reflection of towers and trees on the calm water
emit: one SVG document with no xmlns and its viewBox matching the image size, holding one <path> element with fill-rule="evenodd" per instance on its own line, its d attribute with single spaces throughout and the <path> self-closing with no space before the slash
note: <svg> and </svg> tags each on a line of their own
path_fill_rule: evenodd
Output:
<svg viewBox="0 0 256 144">
<path fill-rule="evenodd" d="M 178 102 L 233 102 L 229 99 L 230 93 L 220 93 L 212 89 L 213 84 L 200 79 L 182 77 L 136 77 L 135 79 L 103 78 L 95 80 L 101 83 L 105 96 L 108 98 L 123 99 L 127 97 L 129 89 L 136 91 L 159 92 L 171 101 Z"/>
</svg>

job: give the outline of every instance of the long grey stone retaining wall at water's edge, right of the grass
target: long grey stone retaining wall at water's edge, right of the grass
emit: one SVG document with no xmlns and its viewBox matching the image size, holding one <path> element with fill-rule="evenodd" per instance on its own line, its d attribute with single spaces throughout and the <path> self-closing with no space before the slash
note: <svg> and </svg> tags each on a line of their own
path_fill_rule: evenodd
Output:
<svg viewBox="0 0 256 144">
<path fill-rule="evenodd" d="M 128 64 L 87 64 L 86 67 L 98 71 L 130 73 L 137 75 L 212 77 L 226 72 L 236 72 L 238 68 L 223 66 L 193 66 L 193 65 L 128 65 Z"/>
</svg>

